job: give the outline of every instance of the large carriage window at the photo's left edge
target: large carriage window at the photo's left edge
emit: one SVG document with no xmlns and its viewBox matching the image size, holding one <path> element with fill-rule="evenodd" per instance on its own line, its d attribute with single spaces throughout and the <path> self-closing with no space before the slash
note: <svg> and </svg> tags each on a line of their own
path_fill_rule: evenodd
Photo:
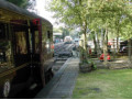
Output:
<svg viewBox="0 0 132 100">
<path fill-rule="evenodd" d="M 11 42 L 7 40 L 6 34 L 6 26 L 0 23 L 0 73 L 13 67 Z"/>
</svg>

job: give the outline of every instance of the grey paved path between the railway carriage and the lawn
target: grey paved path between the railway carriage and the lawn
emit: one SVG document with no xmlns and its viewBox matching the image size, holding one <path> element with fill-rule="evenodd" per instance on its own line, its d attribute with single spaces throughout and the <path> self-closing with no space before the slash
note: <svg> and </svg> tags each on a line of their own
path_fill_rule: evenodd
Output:
<svg viewBox="0 0 132 100">
<path fill-rule="evenodd" d="M 68 58 L 35 99 L 70 99 L 78 75 L 79 58 Z"/>
</svg>

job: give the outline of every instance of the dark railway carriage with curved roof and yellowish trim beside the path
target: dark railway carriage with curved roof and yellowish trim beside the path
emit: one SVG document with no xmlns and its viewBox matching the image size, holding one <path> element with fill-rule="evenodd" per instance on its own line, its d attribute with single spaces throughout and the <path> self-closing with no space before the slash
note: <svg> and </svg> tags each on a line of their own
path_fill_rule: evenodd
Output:
<svg viewBox="0 0 132 100">
<path fill-rule="evenodd" d="M 45 19 L 0 0 L 0 98 L 14 98 L 52 78 L 53 25 Z"/>
</svg>

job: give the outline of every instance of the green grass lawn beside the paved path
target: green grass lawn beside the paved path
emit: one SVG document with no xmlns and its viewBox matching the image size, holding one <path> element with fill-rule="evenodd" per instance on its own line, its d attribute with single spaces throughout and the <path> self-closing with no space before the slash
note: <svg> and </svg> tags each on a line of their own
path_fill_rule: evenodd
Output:
<svg viewBox="0 0 132 100">
<path fill-rule="evenodd" d="M 132 69 L 79 74 L 73 99 L 132 99 Z"/>
</svg>

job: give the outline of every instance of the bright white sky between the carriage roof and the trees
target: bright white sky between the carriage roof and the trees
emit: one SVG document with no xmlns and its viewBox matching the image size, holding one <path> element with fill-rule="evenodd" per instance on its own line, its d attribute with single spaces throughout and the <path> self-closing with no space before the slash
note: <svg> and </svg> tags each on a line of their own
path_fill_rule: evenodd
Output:
<svg viewBox="0 0 132 100">
<path fill-rule="evenodd" d="M 37 14 L 48 20 L 54 27 L 58 27 L 59 25 L 55 24 L 55 19 L 52 18 L 53 12 L 46 11 L 45 9 L 47 7 L 47 1 L 51 0 L 36 0 L 35 9 L 37 10 Z"/>
</svg>

